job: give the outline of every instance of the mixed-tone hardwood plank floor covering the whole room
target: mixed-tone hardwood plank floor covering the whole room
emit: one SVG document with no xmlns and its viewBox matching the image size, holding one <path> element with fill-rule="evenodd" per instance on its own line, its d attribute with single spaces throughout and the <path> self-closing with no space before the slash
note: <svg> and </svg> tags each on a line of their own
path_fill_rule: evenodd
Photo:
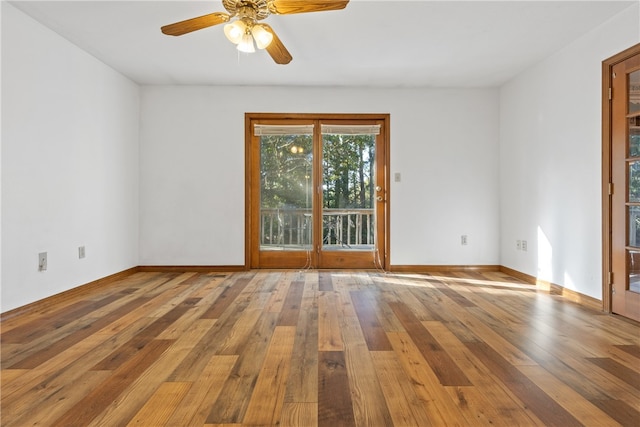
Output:
<svg viewBox="0 0 640 427">
<path fill-rule="evenodd" d="M 502 273 L 138 272 L 2 319 L 2 426 L 640 425 L 640 327 Z"/>
</svg>

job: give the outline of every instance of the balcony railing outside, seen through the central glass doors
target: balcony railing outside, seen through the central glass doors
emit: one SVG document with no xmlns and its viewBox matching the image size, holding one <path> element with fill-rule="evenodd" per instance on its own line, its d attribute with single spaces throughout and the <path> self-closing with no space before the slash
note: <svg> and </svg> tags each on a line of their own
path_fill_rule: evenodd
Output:
<svg viewBox="0 0 640 427">
<path fill-rule="evenodd" d="M 311 246 L 311 209 L 262 209 L 262 249 L 299 250 Z M 322 244 L 332 249 L 368 249 L 374 245 L 373 209 L 324 209 Z"/>
</svg>

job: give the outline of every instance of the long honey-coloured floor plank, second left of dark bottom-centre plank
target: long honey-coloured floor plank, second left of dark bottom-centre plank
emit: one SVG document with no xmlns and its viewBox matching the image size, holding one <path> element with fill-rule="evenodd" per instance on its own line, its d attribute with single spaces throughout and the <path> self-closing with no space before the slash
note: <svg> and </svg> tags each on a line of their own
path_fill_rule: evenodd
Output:
<svg viewBox="0 0 640 427">
<path fill-rule="evenodd" d="M 295 334 L 296 328 L 293 326 L 275 328 L 242 421 L 244 424 L 280 423 Z"/>
</svg>

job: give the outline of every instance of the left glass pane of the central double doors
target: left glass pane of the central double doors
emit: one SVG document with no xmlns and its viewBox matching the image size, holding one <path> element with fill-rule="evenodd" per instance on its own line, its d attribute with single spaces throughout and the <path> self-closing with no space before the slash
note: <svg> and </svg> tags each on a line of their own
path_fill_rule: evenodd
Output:
<svg viewBox="0 0 640 427">
<path fill-rule="evenodd" d="M 312 161 L 312 135 L 260 138 L 261 250 L 310 249 Z"/>
</svg>

